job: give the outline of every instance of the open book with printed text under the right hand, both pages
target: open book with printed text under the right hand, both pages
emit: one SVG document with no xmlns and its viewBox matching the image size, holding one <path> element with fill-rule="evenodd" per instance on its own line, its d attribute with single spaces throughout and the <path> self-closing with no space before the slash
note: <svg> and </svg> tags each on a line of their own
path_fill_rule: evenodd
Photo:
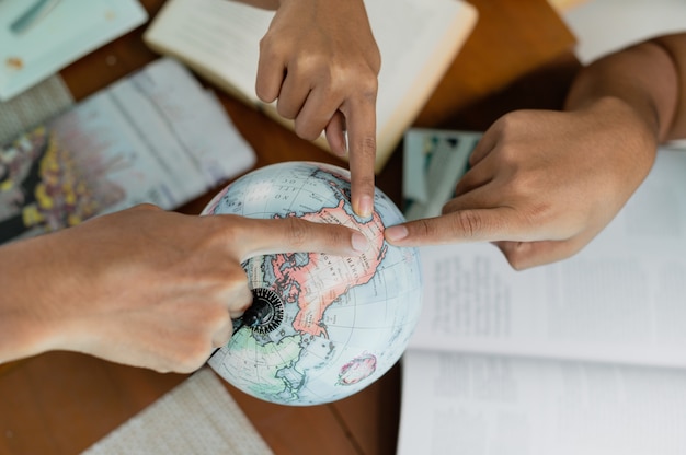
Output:
<svg viewBox="0 0 686 455">
<path fill-rule="evenodd" d="M 578 255 L 421 249 L 399 454 L 686 453 L 686 151 Z"/>
</svg>

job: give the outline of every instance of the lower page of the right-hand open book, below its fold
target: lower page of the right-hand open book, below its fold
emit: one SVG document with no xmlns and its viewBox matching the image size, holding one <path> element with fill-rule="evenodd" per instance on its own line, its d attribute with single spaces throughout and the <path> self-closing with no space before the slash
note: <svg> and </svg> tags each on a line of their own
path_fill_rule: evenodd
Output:
<svg viewBox="0 0 686 455">
<path fill-rule="evenodd" d="M 686 453 L 686 371 L 410 350 L 398 455 Z"/>
</svg>

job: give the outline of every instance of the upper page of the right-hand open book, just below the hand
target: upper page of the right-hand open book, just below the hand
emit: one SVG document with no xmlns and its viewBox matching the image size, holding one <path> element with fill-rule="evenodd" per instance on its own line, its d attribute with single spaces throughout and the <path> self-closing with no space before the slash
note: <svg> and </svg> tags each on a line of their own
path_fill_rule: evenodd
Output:
<svg viewBox="0 0 686 455">
<path fill-rule="evenodd" d="M 491 244 L 421 248 L 414 348 L 686 366 L 686 152 L 661 150 L 578 255 L 513 270 Z"/>
</svg>

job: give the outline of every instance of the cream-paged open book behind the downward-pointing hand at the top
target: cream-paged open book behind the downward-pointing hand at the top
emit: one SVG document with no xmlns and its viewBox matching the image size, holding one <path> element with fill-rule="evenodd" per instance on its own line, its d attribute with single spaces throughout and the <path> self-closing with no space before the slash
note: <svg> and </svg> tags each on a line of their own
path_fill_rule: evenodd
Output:
<svg viewBox="0 0 686 455">
<path fill-rule="evenodd" d="M 455 59 L 477 11 L 462 0 L 368 0 L 365 4 L 382 60 L 378 172 Z M 259 42 L 273 15 L 229 0 L 168 0 L 144 39 L 156 51 L 175 56 L 233 96 L 291 127 L 255 94 Z M 316 142 L 328 149 L 323 136 Z"/>
</svg>

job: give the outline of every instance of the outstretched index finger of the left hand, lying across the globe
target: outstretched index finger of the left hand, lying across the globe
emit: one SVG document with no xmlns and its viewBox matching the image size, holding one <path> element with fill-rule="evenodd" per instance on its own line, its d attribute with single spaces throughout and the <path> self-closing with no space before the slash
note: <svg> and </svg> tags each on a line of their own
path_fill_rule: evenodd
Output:
<svg viewBox="0 0 686 455">
<path fill-rule="evenodd" d="M 219 215 L 231 217 L 231 215 Z M 241 261 L 274 253 L 328 253 L 336 256 L 359 256 L 369 241 L 359 231 L 340 224 L 315 223 L 295 217 L 260 220 L 232 217 L 236 254 Z M 237 226 L 233 226 L 235 230 Z"/>
</svg>

